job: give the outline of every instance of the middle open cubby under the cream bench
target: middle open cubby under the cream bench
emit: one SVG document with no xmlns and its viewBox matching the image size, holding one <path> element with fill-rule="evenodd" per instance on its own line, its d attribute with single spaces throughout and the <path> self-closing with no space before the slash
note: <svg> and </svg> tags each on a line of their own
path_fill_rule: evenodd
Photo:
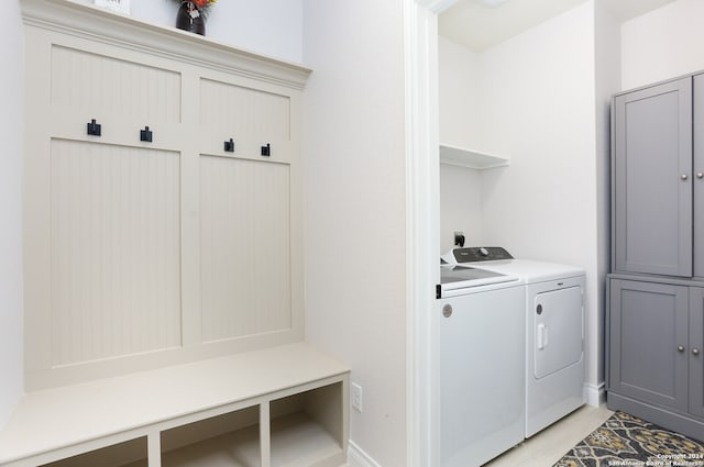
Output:
<svg viewBox="0 0 704 467">
<path fill-rule="evenodd" d="M 260 407 L 162 432 L 162 467 L 260 467 Z"/>
</svg>

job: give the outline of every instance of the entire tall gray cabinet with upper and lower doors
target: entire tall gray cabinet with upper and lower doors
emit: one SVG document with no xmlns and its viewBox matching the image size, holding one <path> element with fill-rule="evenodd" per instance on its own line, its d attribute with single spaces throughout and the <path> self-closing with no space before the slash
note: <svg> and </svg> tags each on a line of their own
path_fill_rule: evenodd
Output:
<svg viewBox="0 0 704 467">
<path fill-rule="evenodd" d="M 704 440 L 704 73 L 612 112 L 607 404 Z"/>
</svg>

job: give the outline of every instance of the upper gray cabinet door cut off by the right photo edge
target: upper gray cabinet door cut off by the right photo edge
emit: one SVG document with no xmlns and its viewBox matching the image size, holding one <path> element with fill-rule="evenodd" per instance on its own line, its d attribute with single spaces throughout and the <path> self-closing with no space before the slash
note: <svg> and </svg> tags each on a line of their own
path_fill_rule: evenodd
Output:
<svg viewBox="0 0 704 467">
<path fill-rule="evenodd" d="M 704 277 L 704 75 L 694 77 L 694 276 Z M 697 242 L 698 240 L 698 242 Z"/>
</svg>

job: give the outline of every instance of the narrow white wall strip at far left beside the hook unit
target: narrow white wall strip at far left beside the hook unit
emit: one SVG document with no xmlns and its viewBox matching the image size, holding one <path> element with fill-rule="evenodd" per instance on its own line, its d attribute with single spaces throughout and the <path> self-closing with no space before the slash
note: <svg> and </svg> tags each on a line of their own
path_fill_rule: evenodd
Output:
<svg viewBox="0 0 704 467">
<path fill-rule="evenodd" d="M 2 9 L 0 56 L 0 427 L 24 390 L 22 320 L 22 22 L 16 2 Z"/>
</svg>

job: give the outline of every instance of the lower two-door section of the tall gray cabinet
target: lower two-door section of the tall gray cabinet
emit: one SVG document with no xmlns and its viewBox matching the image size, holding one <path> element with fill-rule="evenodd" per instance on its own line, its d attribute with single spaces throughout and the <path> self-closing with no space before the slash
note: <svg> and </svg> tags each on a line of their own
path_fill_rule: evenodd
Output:
<svg viewBox="0 0 704 467">
<path fill-rule="evenodd" d="M 608 407 L 701 440 L 704 288 L 612 277 L 608 330 Z"/>
</svg>

